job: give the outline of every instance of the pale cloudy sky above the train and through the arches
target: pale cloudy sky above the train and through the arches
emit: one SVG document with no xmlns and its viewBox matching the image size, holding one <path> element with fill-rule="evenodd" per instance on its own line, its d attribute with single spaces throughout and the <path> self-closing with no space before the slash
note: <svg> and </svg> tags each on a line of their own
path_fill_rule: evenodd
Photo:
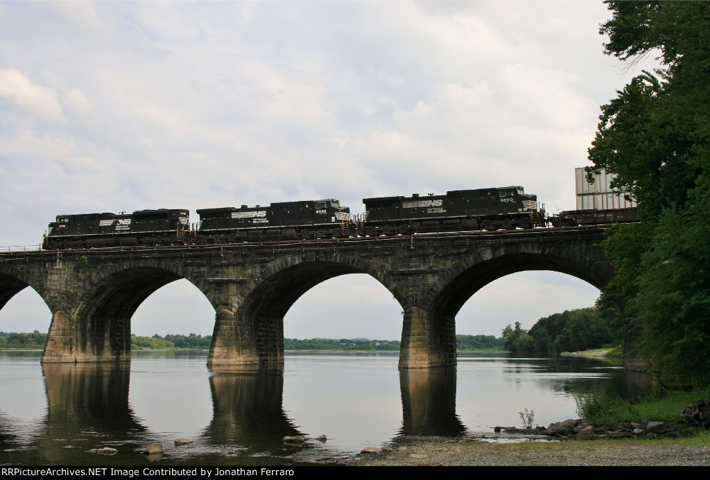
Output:
<svg viewBox="0 0 710 480">
<path fill-rule="evenodd" d="M 190 208 L 194 222 L 329 198 L 359 213 L 369 197 L 508 185 L 574 209 L 599 106 L 655 67 L 603 55 L 610 17 L 581 0 L 2 1 L 0 248 L 37 247 L 67 213 Z M 457 333 L 530 328 L 597 296 L 564 274 L 510 275 L 466 303 Z M 400 312 L 347 275 L 300 298 L 285 335 L 398 340 Z M 0 330 L 50 318 L 26 289 Z M 209 335 L 214 310 L 181 280 L 131 323 Z"/>
</svg>

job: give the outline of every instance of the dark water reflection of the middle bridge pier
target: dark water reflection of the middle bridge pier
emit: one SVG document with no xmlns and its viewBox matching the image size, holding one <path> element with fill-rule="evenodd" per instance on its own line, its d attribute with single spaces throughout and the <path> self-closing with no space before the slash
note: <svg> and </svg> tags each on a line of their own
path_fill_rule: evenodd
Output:
<svg viewBox="0 0 710 480">
<path fill-rule="evenodd" d="M 302 435 L 283 411 L 283 371 L 211 369 L 214 417 L 209 442 L 273 449 L 285 436 Z"/>
</svg>

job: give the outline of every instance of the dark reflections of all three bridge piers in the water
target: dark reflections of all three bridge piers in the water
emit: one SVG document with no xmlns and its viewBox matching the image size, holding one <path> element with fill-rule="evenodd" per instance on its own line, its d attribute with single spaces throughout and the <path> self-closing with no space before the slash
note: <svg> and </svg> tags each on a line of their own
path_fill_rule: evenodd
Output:
<svg viewBox="0 0 710 480">
<path fill-rule="evenodd" d="M 43 366 L 43 376 L 47 415 L 31 445 L 3 428 L 0 416 L 4 462 L 83 464 L 88 450 L 109 446 L 121 456 L 112 459 L 123 464 L 126 457 L 135 462 L 138 450 L 156 441 L 164 443 L 166 456 L 178 454 L 180 447 L 170 445 L 164 433 L 151 432 L 131 408 L 131 374 L 126 364 L 48 364 Z M 283 372 L 273 369 L 213 370 L 209 376 L 212 420 L 192 439 L 204 452 L 200 458 L 225 448 L 238 451 L 239 457 L 279 452 L 283 437 L 304 435 L 283 410 L 283 383 Z M 400 390 L 400 435 L 465 432 L 455 411 L 455 369 L 400 372 Z M 302 448 L 312 447 L 314 441 L 307 441 Z"/>
</svg>

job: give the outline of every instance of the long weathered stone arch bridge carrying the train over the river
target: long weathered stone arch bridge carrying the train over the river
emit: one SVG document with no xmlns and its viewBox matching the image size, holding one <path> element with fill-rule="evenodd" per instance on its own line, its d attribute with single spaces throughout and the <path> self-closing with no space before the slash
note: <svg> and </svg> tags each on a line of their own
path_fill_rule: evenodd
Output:
<svg viewBox="0 0 710 480">
<path fill-rule="evenodd" d="M 209 365 L 280 368 L 283 318 L 297 298 L 332 277 L 364 273 L 402 307 L 400 369 L 454 365 L 454 317 L 471 295 L 524 270 L 562 272 L 601 288 L 614 275 L 596 246 L 602 238 L 603 228 L 594 227 L 11 252 L 0 255 L 0 308 L 27 286 L 40 294 L 52 312 L 45 363 L 126 362 L 133 313 L 153 291 L 184 278 L 216 312 Z M 510 291 L 510 301 L 520 294 Z"/>
</svg>

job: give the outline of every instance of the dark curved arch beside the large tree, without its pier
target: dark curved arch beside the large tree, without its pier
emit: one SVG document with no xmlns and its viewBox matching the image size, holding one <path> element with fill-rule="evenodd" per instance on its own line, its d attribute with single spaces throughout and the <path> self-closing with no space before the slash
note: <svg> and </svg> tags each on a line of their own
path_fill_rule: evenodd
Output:
<svg viewBox="0 0 710 480">
<path fill-rule="evenodd" d="M 464 303 L 484 286 L 506 275 L 529 270 L 550 270 L 572 275 L 601 289 L 614 277 L 614 269 L 601 251 L 550 245 L 507 245 L 483 250 L 442 275 L 427 300 L 430 311 L 453 318 Z M 515 292 L 511 292 L 512 295 Z"/>
</svg>

